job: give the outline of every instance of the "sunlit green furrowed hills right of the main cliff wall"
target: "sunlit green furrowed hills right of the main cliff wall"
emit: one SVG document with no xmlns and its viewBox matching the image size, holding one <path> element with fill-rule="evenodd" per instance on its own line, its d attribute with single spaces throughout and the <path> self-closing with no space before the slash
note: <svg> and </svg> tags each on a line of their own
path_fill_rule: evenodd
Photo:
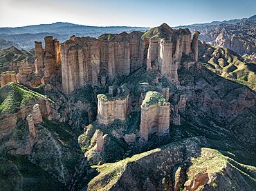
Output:
<svg viewBox="0 0 256 191">
<path fill-rule="evenodd" d="M 232 50 L 199 43 L 199 61 L 221 77 L 256 90 L 256 64 L 246 63 Z"/>
</svg>

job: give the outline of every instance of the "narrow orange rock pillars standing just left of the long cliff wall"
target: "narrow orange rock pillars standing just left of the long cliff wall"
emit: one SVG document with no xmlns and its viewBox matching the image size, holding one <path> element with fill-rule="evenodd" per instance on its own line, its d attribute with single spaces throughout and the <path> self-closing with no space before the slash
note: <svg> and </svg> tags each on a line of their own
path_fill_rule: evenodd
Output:
<svg viewBox="0 0 256 191">
<path fill-rule="evenodd" d="M 35 41 L 35 71 L 49 78 L 60 65 L 60 42 L 52 36 L 45 37 L 44 42 L 45 48 L 42 48 L 42 43 Z"/>
</svg>

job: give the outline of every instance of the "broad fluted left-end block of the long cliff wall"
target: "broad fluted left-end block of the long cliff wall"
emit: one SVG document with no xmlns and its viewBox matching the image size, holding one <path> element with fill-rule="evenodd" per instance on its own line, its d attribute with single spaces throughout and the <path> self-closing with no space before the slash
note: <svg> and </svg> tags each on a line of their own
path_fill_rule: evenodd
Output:
<svg viewBox="0 0 256 191">
<path fill-rule="evenodd" d="M 62 43 L 62 88 L 66 94 L 84 83 L 97 83 L 100 43 L 95 38 L 74 37 Z"/>
</svg>

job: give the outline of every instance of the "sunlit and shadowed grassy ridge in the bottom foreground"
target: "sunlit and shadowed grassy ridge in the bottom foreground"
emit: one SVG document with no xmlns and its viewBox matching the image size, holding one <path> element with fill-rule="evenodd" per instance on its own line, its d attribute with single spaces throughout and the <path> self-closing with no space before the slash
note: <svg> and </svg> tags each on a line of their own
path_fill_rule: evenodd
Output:
<svg viewBox="0 0 256 191">
<path fill-rule="evenodd" d="M 217 150 L 200 148 L 197 141 L 175 141 L 116 163 L 98 165 L 100 174 L 86 190 L 253 190 L 241 165 L 240 169 L 230 165 Z M 193 176 L 191 169 L 198 173 Z"/>
</svg>

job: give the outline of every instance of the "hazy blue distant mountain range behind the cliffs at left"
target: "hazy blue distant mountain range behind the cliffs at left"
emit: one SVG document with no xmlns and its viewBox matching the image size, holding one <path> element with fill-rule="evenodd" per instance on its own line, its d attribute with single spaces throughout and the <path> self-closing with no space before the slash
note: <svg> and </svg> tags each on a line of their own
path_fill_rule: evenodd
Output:
<svg viewBox="0 0 256 191">
<path fill-rule="evenodd" d="M 98 37 L 104 33 L 121 33 L 132 31 L 146 31 L 149 28 L 128 26 L 82 26 L 73 23 L 52 23 L 17 28 L 0 28 L 0 39 L 17 43 L 21 48 L 34 48 L 34 41 L 44 41 L 44 37 L 53 36 L 59 41 L 66 41 L 73 34 L 80 37 Z"/>
</svg>

